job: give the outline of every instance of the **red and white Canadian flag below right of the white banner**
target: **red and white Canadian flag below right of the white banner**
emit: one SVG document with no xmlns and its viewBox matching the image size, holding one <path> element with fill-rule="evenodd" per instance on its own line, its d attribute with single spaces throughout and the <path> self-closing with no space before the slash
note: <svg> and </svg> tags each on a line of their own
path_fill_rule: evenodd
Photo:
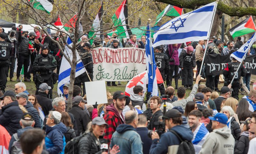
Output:
<svg viewBox="0 0 256 154">
<path fill-rule="evenodd" d="M 160 71 L 158 70 L 158 68 L 156 68 L 156 80 L 157 80 L 157 84 L 161 84 L 164 83 L 163 77 L 161 76 Z M 130 80 L 125 87 L 125 95 L 126 96 L 130 96 L 131 94 L 133 94 L 133 88 L 136 85 L 140 85 L 143 87 L 143 97 L 145 95 L 145 92 L 147 91 L 147 85 L 148 84 L 148 72 L 144 71 L 136 76 L 134 76 L 132 78 L 132 80 Z"/>
</svg>

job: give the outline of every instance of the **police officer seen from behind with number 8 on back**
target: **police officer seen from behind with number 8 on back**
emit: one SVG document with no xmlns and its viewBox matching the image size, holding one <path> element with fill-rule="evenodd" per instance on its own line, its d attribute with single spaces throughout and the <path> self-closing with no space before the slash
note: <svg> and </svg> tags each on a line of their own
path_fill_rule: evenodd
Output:
<svg viewBox="0 0 256 154">
<path fill-rule="evenodd" d="M 238 69 L 239 66 L 239 62 L 232 57 L 232 61 L 226 64 L 225 69 L 223 70 L 223 75 L 225 77 L 225 80 L 228 79 L 228 83 L 225 83 L 226 85 L 230 84 L 231 80 L 234 78 L 232 85 L 232 97 L 234 97 L 235 99 L 238 100 L 238 92 L 239 89 L 241 88 L 241 84 L 240 84 L 240 77 L 244 77 L 246 75 L 246 70 L 244 68 L 244 66 L 242 65 L 239 70 L 236 73 L 236 70 Z M 235 74 L 236 73 L 236 74 Z"/>
</svg>

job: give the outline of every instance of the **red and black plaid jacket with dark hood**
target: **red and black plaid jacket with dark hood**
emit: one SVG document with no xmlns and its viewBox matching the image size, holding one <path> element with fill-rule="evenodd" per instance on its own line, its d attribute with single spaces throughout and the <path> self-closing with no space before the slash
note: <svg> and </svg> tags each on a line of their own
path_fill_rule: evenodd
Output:
<svg viewBox="0 0 256 154">
<path fill-rule="evenodd" d="M 120 124 L 124 124 L 124 116 L 121 113 L 117 112 L 116 108 L 114 107 L 114 104 L 111 104 L 107 106 L 106 108 L 107 113 L 105 113 L 105 116 L 103 117 L 108 126 L 105 129 L 105 136 L 104 138 L 108 140 L 108 146 L 111 141 L 112 134 L 116 131 L 116 128 Z"/>
</svg>

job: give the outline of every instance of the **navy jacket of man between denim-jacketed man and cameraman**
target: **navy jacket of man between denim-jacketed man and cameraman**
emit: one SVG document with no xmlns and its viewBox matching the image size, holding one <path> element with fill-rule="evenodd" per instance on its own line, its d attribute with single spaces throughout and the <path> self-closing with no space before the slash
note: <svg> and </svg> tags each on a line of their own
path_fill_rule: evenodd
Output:
<svg viewBox="0 0 256 154">
<path fill-rule="evenodd" d="M 149 154 L 149 147 L 152 144 L 152 139 L 148 137 L 148 128 L 139 127 L 136 128 L 137 133 L 140 135 L 143 147 L 143 154 Z"/>
</svg>

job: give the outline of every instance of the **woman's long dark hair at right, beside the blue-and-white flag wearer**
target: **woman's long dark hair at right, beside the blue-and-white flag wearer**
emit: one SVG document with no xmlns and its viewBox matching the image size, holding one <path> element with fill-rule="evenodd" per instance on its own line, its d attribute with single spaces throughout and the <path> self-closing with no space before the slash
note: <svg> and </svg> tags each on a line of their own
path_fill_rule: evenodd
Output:
<svg viewBox="0 0 256 154">
<path fill-rule="evenodd" d="M 247 99 L 241 99 L 236 109 L 236 114 L 239 121 L 245 121 L 246 118 L 251 117 L 252 112 L 249 110 Z"/>
</svg>

